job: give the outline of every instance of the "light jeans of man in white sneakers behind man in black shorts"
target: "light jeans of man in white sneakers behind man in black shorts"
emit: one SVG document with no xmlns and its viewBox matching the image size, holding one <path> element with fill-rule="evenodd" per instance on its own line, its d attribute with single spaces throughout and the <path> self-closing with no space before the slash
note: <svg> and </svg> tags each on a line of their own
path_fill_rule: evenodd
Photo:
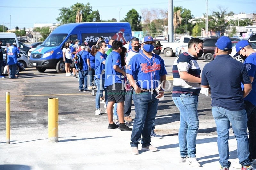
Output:
<svg viewBox="0 0 256 170">
<path fill-rule="evenodd" d="M 96 86 L 97 86 L 97 92 L 96 92 L 96 97 L 95 97 L 95 104 L 96 104 L 96 109 L 100 109 L 100 95 L 103 93 L 103 90 L 105 92 L 105 101 L 106 101 L 106 106 L 108 105 L 108 95 L 107 95 L 107 89 L 104 88 L 104 80 L 101 79 L 95 79 L 94 80 Z"/>
</svg>

